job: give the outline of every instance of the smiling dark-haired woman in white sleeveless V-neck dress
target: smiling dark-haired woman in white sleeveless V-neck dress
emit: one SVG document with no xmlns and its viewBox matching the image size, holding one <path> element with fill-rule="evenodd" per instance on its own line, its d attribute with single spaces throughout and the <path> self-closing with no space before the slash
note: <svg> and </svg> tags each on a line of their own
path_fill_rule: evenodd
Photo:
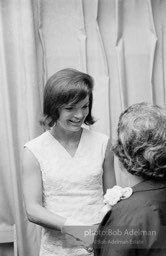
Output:
<svg viewBox="0 0 166 256">
<path fill-rule="evenodd" d="M 25 205 L 28 219 L 43 227 L 40 256 L 89 255 L 75 244 L 74 226 L 101 221 L 103 189 L 115 184 L 108 137 L 82 127 L 94 123 L 92 90 L 88 74 L 55 73 L 44 90 L 41 124 L 47 131 L 25 145 Z"/>
</svg>

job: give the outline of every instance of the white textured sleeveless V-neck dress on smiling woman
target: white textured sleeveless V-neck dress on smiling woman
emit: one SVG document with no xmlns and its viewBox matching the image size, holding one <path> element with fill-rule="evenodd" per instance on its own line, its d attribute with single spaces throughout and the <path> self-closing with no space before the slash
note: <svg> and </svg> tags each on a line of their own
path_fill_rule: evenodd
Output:
<svg viewBox="0 0 166 256">
<path fill-rule="evenodd" d="M 72 157 L 49 131 L 25 144 L 40 164 L 43 206 L 87 225 L 103 217 L 103 161 L 108 137 L 83 128 Z M 73 239 L 73 241 L 72 241 Z M 68 241 L 70 241 L 68 243 Z M 61 231 L 42 228 L 40 256 L 93 255 Z"/>
</svg>

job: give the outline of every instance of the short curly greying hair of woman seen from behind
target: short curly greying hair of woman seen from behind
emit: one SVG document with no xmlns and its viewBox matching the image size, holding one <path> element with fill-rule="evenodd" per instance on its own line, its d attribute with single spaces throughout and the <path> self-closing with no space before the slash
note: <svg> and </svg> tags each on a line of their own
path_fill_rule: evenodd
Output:
<svg viewBox="0 0 166 256">
<path fill-rule="evenodd" d="M 128 107 L 113 146 L 123 166 L 145 179 L 166 180 L 166 111 L 149 103 Z"/>
</svg>

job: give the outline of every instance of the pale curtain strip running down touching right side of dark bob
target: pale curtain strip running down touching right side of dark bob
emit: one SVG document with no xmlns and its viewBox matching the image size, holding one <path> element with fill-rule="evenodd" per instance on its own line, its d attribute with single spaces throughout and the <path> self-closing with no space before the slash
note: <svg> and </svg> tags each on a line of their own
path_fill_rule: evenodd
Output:
<svg viewBox="0 0 166 256">
<path fill-rule="evenodd" d="M 93 76 L 93 114 L 96 123 L 92 129 L 110 134 L 109 124 L 109 77 L 105 49 L 98 26 L 98 1 L 84 1 L 85 27 L 87 33 L 87 71 Z"/>
</svg>

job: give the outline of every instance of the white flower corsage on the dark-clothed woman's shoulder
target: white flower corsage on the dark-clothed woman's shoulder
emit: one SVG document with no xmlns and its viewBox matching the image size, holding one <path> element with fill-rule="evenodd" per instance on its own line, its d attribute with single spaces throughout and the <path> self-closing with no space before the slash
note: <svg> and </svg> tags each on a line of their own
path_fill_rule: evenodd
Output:
<svg viewBox="0 0 166 256">
<path fill-rule="evenodd" d="M 112 209 L 112 206 L 123 199 L 129 198 L 132 193 L 133 190 L 130 187 L 122 188 L 120 186 L 114 186 L 113 188 L 107 189 L 106 194 L 104 195 L 103 202 L 105 205 L 102 208 L 102 212 L 107 213 Z"/>
</svg>

